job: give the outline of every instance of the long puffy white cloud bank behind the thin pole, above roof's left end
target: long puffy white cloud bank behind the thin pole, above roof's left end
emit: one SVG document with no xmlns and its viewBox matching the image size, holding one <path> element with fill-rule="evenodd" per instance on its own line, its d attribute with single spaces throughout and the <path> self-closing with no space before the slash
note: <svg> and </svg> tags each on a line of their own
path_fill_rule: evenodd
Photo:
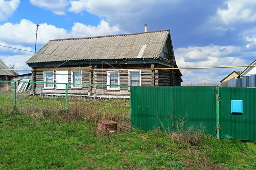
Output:
<svg viewBox="0 0 256 170">
<path fill-rule="evenodd" d="M 97 26 L 74 23 L 72 29 L 66 30 L 47 23 L 40 23 L 38 27 L 37 43 L 45 44 L 50 39 L 69 37 L 91 37 L 98 35 L 116 34 L 120 31 L 118 26 L 110 27 L 107 21 L 100 21 Z M 9 44 L 34 45 L 36 38 L 36 24 L 30 20 L 22 19 L 20 23 L 4 23 L 0 25 L 0 42 Z"/>
</svg>

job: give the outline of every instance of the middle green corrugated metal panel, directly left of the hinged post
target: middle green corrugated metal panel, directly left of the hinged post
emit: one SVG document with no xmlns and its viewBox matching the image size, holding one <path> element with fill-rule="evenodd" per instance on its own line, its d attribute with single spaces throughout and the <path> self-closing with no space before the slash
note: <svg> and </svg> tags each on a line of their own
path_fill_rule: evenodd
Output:
<svg viewBox="0 0 256 170">
<path fill-rule="evenodd" d="M 205 133 L 215 136 L 216 127 L 216 87 L 215 86 L 174 86 L 174 117 L 176 128 L 180 118 L 184 118 L 184 128 L 200 124 Z"/>
</svg>

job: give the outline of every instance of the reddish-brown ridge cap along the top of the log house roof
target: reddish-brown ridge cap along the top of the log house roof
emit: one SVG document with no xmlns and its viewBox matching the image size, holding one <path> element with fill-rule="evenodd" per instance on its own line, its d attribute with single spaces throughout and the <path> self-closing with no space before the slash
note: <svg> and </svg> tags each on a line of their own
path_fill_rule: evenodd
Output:
<svg viewBox="0 0 256 170">
<path fill-rule="evenodd" d="M 125 35 L 139 35 L 139 34 L 144 34 L 144 33 L 164 32 L 164 31 L 170 31 L 170 29 L 158 30 L 158 31 L 140 32 L 140 33 L 129 33 L 129 34 L 102 35 L 102 36 L 95 36 L 95 37 L 51 39 L 49 41 L 63 41 L 63 40 L 75 40 L 75 39 L 92 39 L 92 38 L 102 38 L 102 37 L 118 37 L 118 36 L 125 36 Z"/>
</svg>

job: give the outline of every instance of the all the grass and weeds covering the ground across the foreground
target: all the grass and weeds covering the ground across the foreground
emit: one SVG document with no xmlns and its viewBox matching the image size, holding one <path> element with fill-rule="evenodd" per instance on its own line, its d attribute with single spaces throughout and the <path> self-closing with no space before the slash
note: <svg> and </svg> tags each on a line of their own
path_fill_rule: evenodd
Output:
<svg viewBox="0 0 256 170">
<path fill-rule="evenodd" d="M 61 104 L 63 98 L 18 94 L 17 109 L 13 109 L 12 99 L 11 91 L 0 93 L 2 169 L 256 168 L 256 143 L 205 136 L 203 125 L 182 129 L 180 121 L 175 135 L 124 125 L 117 133 L 97 131 L 96 121 L 102 118 L 128 125 L 128 100 L 116 100 L 114 105 L 84 120 L 76 117 L 76 99 L 69 101 L 74 109 L 70 110 L 71 115 L 65 115 L 65 109 L 56 104 Z M 80 113 L 88 117 L 111 103 L 113 100 L 97 100 L 92 108 Z M 89 100 L 83 100 L 83 105 L 89 107 Z M 34 110 L 29 109 L 31 106 Z"/>
</svg>

